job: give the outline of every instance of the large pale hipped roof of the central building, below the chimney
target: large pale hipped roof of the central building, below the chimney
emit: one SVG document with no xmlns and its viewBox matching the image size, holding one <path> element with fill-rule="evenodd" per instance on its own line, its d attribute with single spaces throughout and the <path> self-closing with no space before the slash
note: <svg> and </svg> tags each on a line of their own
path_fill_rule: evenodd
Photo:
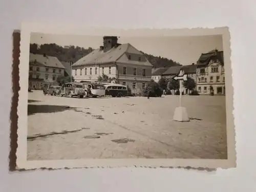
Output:
<svg viewBox="0 0 256 192">
<path fill-rule="evenodd" d="M 103 50 L 97 49 L 83 58 L 79 59 L 72 66 L 82 66 L 88 64 L 101 64 L 101 63 L 110 63 L 110 62 L 125 62 L 131 64 L 139 64 L 139 65 L 147 65 L 152 66 L 152 64 L 145 59 L 145 61 L 134 61 L 128 60 L 126 58 L 126 54 L 139 54 L 144 56 L 140 51 L 138 51 L 134 46 L 130 43 L 120 44 L 117 47 L 113 47 L 108 52 L 103 52 Z"/>
</svg>

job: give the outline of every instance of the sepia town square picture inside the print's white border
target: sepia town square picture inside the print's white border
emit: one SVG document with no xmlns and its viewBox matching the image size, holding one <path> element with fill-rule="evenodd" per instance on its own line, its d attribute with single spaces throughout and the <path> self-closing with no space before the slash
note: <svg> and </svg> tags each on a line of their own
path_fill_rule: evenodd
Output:
<svg viewBox="0 0 256 192">
<path fill-rule="evenodd" d="M 222 34 L 31 32 L 27 43 L 28 162 L 233 160 Z"/>
</svg>

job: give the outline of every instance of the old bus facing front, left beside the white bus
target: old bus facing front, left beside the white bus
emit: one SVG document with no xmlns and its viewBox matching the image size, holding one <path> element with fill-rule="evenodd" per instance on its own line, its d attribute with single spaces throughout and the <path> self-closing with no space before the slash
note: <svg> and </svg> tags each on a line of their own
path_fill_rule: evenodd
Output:
<svg viewBox="0 0 256 192">
<path fill-rule="evenodd" d="M 84 85 L 82 83 L 66 83 L 61 91 L 61 97 L 69 96 L 72 98 L 73 96 L 83 98 L 84 96 Z"/>
</svg>

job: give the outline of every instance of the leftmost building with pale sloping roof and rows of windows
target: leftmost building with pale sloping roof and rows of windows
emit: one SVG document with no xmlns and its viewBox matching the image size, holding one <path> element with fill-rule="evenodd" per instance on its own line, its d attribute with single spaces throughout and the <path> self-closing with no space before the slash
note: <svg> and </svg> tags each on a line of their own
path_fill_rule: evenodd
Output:
<svg viewBox="0 0 256 192">
<path fill-rule="evenodd" d="M 64 76 L 65 67 L 56 57 L 30 54 L 29 87 L 42 89 L 49 85 L 58 85 L 57 78 Z"/>
</svg>

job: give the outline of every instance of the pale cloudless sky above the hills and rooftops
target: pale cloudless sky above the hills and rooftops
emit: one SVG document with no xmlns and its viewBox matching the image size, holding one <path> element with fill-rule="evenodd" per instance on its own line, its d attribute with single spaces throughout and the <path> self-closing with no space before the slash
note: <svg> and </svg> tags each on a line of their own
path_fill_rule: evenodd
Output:
<svg viewBox="0 0 256 192">
<path fill-rule="evenodd" d="M 30 43 L 56 43 L 98 49 L 103 45 L 102 36 L 57 35 L 31 33 Z M 130 43 L 137 50 L 161 56 L 182 65 L 196 63 L 202 53 L 217 49 L 223 51 L 222 35 L 183 37 L 119 37 L 118 43 Z"/>
</svg>

